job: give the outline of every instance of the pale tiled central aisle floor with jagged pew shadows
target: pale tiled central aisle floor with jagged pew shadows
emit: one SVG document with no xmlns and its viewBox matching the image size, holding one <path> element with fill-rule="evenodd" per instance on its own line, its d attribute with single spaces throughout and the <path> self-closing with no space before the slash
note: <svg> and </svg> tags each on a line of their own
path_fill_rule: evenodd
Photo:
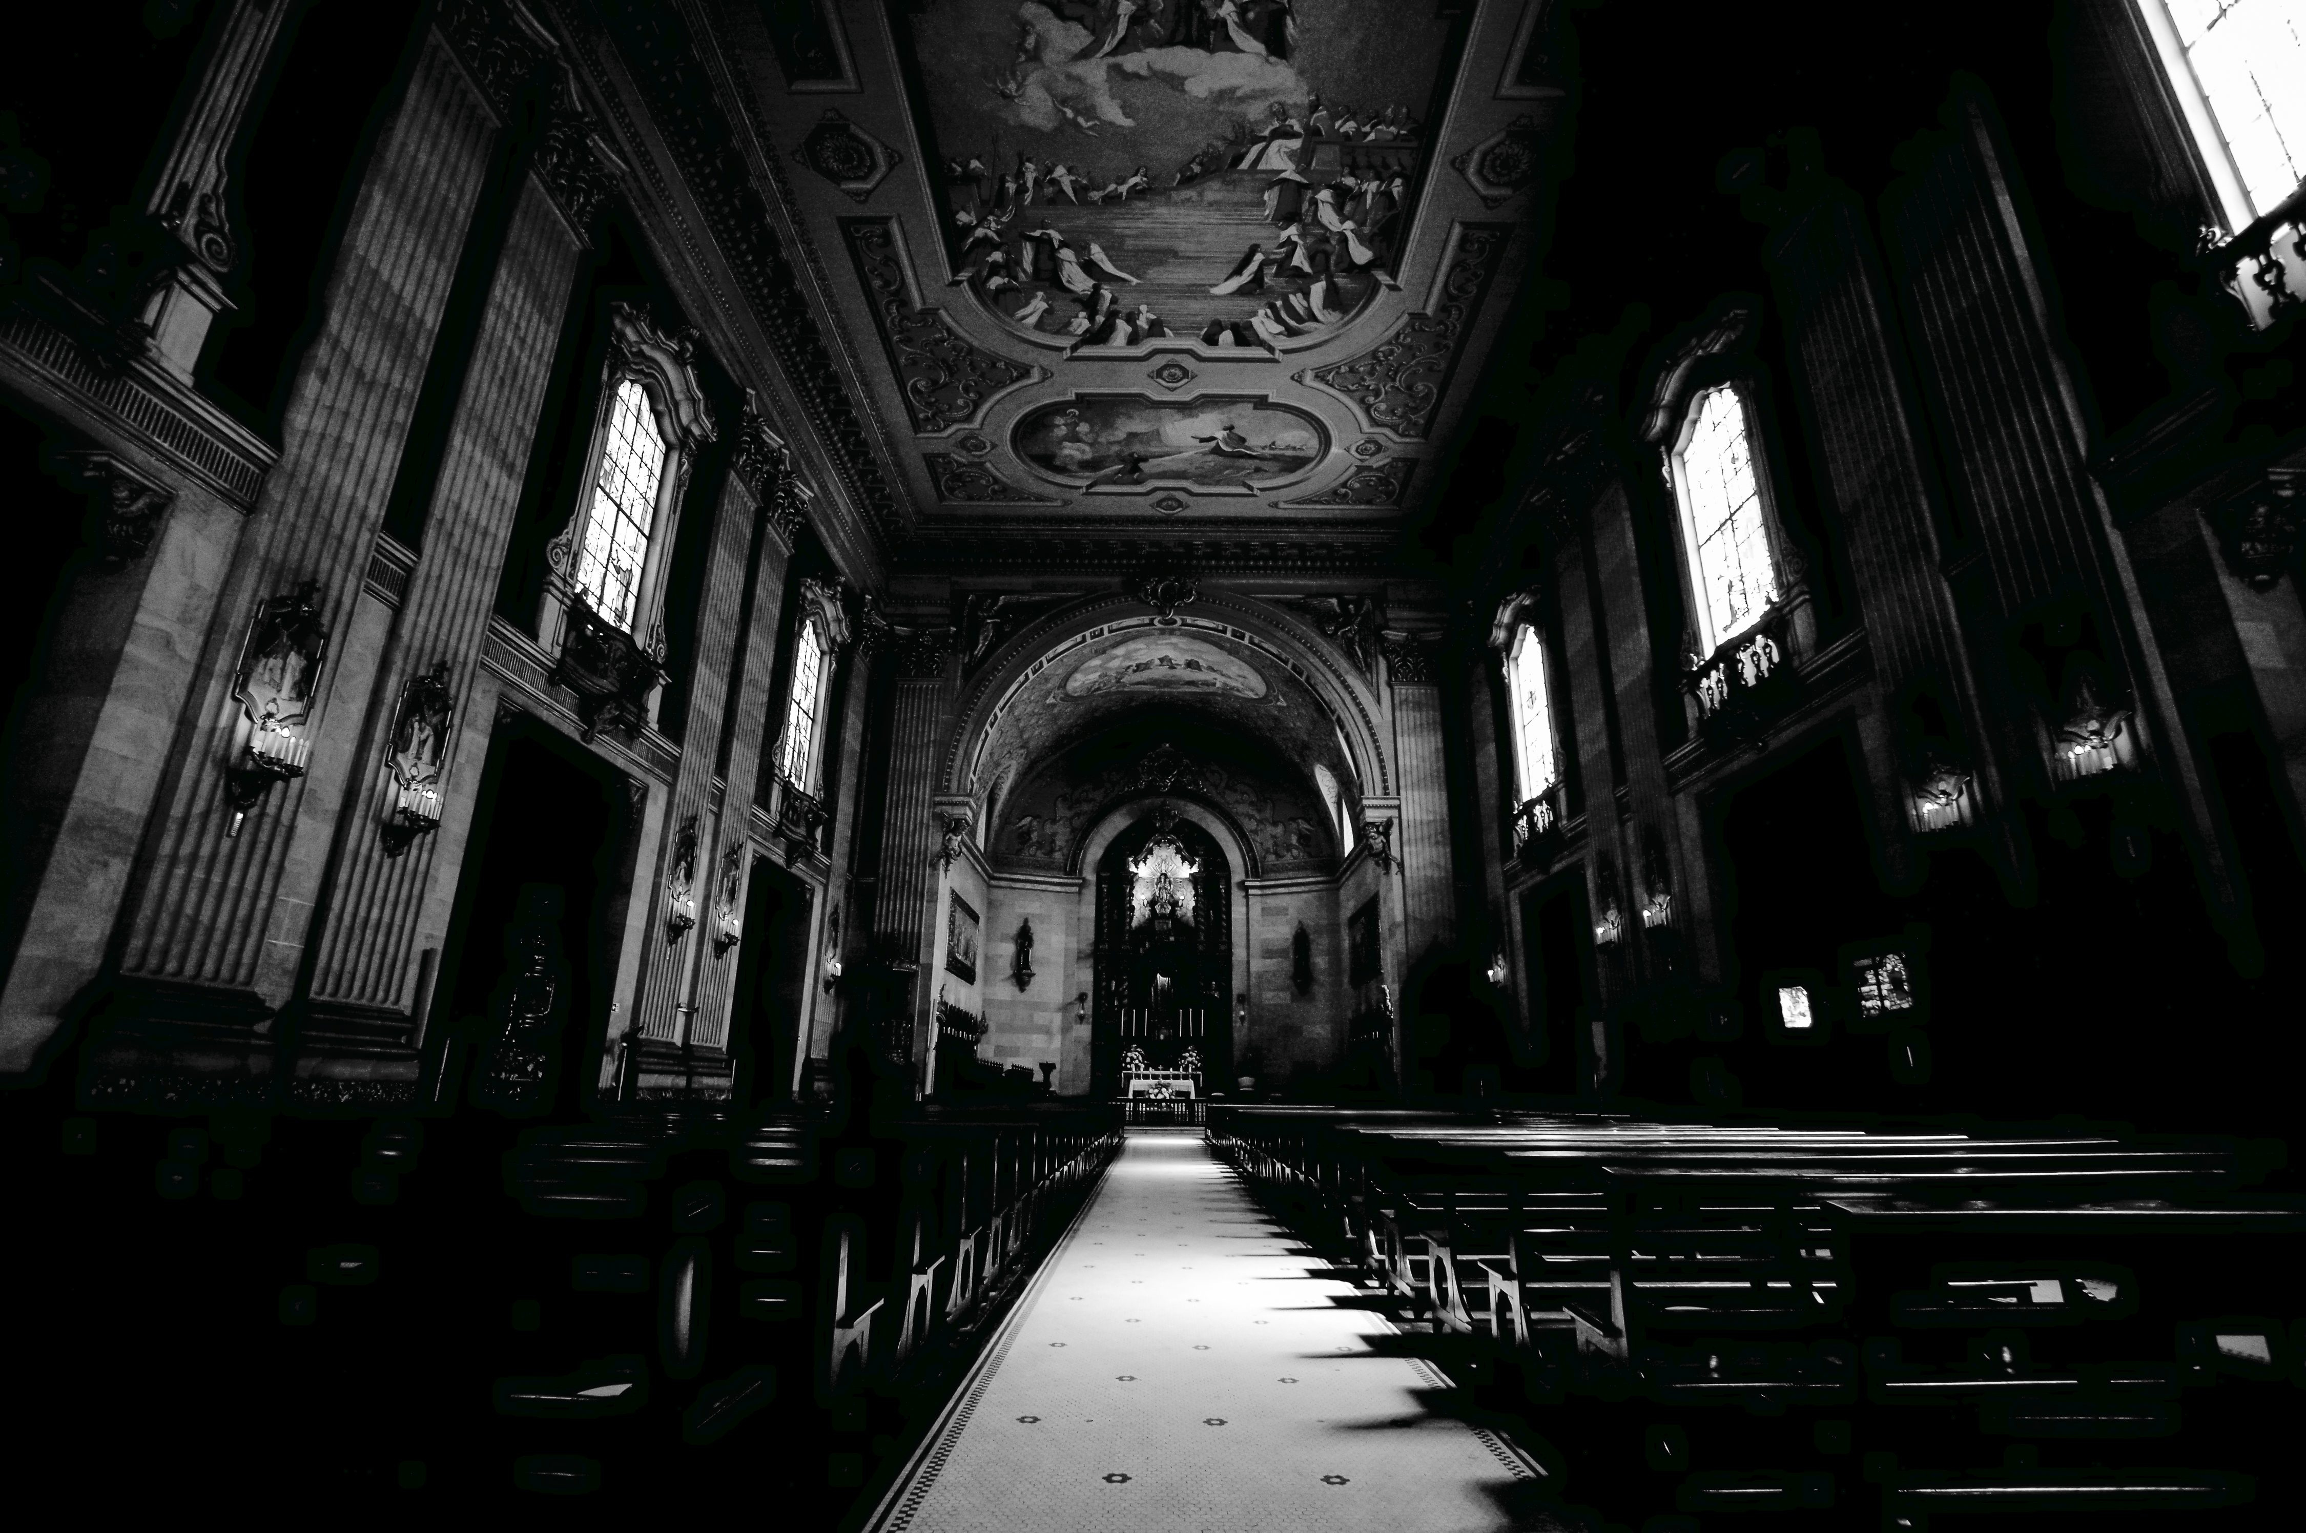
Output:
<svg viewBox="0 0 2306 1533">
<path fill-rule="evenodd" d="M 881 1505 L 879 1533 L 1487 1533 L 1533 1478 L 1430 1415 L 1197 1130 L 1132 1130 Z M 1522 1524 L 1527 1526 L 1527 1524 Z"/>
</svg>

